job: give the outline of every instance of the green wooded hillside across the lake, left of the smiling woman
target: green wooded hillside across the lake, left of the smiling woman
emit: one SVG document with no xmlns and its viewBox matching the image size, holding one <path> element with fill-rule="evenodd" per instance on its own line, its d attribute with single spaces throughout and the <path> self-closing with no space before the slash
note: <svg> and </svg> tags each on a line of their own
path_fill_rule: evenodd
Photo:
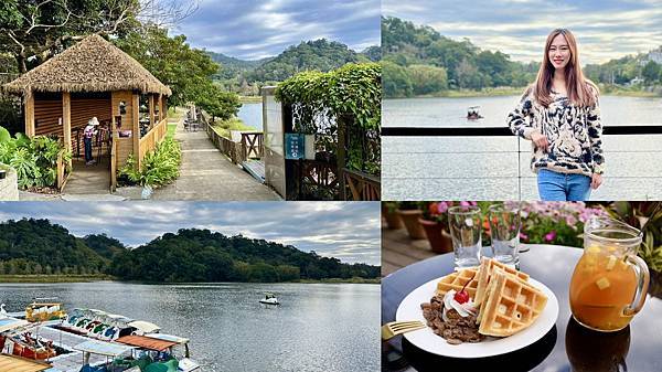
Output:
<svg viewBox="0 0 662 372">
<path fill-rule="evenodd" d="M 524 86 L 537 71 L 536 64 L 516 63 L 508 54 L 481 51 L 468 40 L 453 41 L 430 26 L 397 18 L 382 18 L 382 45 L 384 95 L 389 98 L 448 88 Z"/>
</svg>

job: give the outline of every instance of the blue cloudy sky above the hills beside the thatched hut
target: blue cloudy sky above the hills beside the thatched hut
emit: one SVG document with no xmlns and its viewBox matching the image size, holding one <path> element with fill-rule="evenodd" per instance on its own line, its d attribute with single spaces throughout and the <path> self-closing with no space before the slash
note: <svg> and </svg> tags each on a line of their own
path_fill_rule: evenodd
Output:
<svg viewBox="0 0 662 372">
<path fill-rule="evenodd" d="M 360 52 L 380 43 L 380 0 L 200 0 L 197 11 L 171 34 L 242 60 L 274 56 L 321 38 Z"/>
</svg>

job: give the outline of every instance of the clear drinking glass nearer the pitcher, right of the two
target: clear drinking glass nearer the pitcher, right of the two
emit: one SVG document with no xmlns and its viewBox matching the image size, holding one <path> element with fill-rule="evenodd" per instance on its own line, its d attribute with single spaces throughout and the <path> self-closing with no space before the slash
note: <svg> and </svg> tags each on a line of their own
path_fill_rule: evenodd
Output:
<svg viewBox="0 0 662 372">
<path fill-rule="evenodd" d="M 494 204 L 489 209 L 492 254 L 498 262 L 520 268 L 520 208 Z"/>
</svg>

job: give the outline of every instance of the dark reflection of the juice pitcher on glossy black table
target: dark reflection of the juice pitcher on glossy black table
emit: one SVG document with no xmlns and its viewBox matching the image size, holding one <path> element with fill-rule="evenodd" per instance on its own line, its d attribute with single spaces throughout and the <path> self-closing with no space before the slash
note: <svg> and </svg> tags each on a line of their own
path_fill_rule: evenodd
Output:
<svg viewBox="0 0 662 372">
<path fill-rule="evenodd" d="M 574 372 L 628 371 L 630 326 L 618 332 L 597 332 L 570 317 L 566 328 L 566 353 Z"/>
</svg>

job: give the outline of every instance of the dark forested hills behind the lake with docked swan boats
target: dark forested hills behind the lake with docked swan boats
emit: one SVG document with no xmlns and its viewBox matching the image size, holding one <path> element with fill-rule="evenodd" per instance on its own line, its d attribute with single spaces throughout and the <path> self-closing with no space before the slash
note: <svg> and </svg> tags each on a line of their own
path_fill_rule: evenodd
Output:
<svg viewBox="0 0 662 372">
<path fill-rule="evenodd" d="M 209 230 L 180 230 L 129 249 L 105 234 L 76 237 L 49 220 L 0 223 L 0 274 L 102 273 L 146 281 L 290 281 L 377 278 L 380 267 Z"/>
</svg>

